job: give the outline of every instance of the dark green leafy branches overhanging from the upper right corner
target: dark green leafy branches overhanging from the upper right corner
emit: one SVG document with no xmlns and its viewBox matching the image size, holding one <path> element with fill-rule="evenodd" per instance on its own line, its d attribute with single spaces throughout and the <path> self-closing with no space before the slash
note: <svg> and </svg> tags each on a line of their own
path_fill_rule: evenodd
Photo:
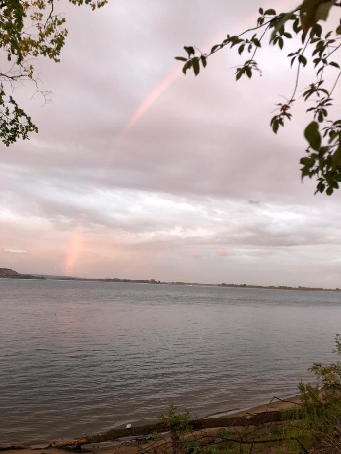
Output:
<svg viewBox="0 0 341 454">
<path fill-rule="evenodd" d="M 314 102 L 314 106 L 307 109 L 307 113 L 313 114 L 314 121 L 311 121 L 304 130 L 304 137 L 309 146 L 306 150 L 308 156 L 300 160 L 301 174 L 302 178 L 315 177 L 316 192 L 325 191 L 327 195 L 338 189 L 341 182 L 341 120 L 327 120 L 328 109 L 334 104 L 332 93 L 341 77 L 340 64 L 335 60 L 335 56 L 340 58 L 337 52 L 341 48 L 340 7 L 341 2 L 337 0 L 304 0 L 293 11 L 279 14 L 272 8 L 265 11 L 259 8 L 260 16 L 255 27 L 248 28 L 239 35 L 227 35 L 207 54 L 201 52 L 196 54 L 194 46 L 185 46 L 187 56 L 175 57 L 184 62 L 182 68 L 184 74 L 193 70 L 197 76 L 206 68 L 209 57 L 226 47 L 232 49 L 237 46 L 239 55 L 246 52 L 249 57 L 235 67 L 235 78 L 238 81 L 246 75 L 251 79 L 254 72 L 261 74 L 255 56 L 262 47 L 265 36 L 269 36 L 269 45 L 275 46 L 279 51 L 283 50 L 285 40 L 292 39 L 293 36 L 300 37 L 302 46 L 287 55 L 290 58 L 290 67 L 294 65 L 296 67 L 292 95 L 289 98 L 284 96 L 286 102 L 276 105 L 277 113 L 271 118 L 270 126 L 276 134 L 280 127 L 284 127 L 285 120 L 292 119 L 291 109 L 297 97 L 300 74 L 308 63 L 313 65 L 316 80 L 312 81 L 300 96 L 304 102 L 308 100 Z M 335 30 L 324 34 L 321 22 L 336 15 L 339 15 L 339 25 Z M 308 49 L 311 50 L 310 56 L 307 56 Z M 339 70 L 333 85 L 329 88 L 323 77 L 327 68 Z"/>
</svg>

